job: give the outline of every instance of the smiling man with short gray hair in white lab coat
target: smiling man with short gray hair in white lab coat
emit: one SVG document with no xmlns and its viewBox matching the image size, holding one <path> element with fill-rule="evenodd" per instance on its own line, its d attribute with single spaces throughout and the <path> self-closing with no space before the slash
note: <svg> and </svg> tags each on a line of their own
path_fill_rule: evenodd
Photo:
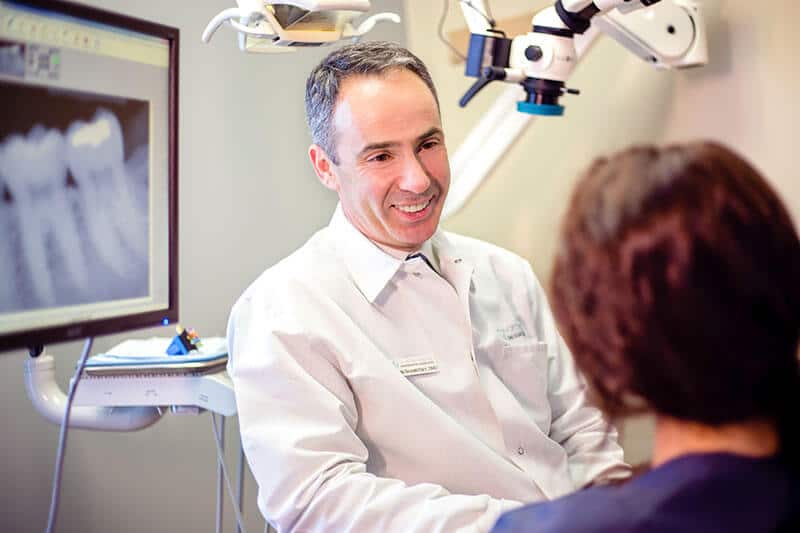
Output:
<svg viewBox="0 0 800 533">
<path fill-rule="evenodd" d="M 258 504 L 279 531 L 487 531 L 628 475 L 522 258 L 438 228 L 450 169 L 430 75 L 390 43 L 311 73 L 330 224 L 228 327 Z"/>
</svg>

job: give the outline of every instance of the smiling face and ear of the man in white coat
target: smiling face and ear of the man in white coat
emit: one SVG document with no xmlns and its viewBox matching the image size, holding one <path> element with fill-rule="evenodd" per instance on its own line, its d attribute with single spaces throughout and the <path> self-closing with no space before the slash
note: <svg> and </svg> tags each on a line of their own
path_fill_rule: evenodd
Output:
<svg viewBox="0 0 800 533">
<path fill-rule="evenodd" d="M 418 249 L 436 231 L 450 186 L 430 89 L 405 69 L 348 78 L 333 123 L 339 163 L 319 147 L 309 151 L 323 184 L 339 194 L 361 233 L 392 248 Z"/>
</svg>

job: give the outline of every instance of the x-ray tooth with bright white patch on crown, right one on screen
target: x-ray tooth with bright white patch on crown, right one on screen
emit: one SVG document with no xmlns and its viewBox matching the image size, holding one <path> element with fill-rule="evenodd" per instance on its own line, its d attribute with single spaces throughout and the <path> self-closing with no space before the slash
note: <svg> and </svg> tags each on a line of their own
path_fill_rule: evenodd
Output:
<svg viewBox="0 0 800 533">
<path fill-rule="evenodd" d="M 103 262 L 127 277 L 130 251 L 146 257 L 148 236 L 143 214 L 133 203 L 117 117 L 100 109 L 91 122 L 74 122 L 67 130 L 66 145 L 92 244 Z"/>
</svg>

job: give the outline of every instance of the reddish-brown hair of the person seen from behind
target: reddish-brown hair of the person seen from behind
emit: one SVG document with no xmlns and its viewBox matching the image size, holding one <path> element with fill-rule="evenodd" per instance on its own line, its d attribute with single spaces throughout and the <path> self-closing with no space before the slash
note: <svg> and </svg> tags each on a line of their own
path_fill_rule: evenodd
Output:
<svg viewBox="0 0 800 533">
<path fill-rule="evenodd" d="M 562 234 L 554 312 L 608 414 L 768 419 L 785 447 L 800 240 L 755 168 L 714 142 L 627 149 L 585 172 Z"/>
</svg>

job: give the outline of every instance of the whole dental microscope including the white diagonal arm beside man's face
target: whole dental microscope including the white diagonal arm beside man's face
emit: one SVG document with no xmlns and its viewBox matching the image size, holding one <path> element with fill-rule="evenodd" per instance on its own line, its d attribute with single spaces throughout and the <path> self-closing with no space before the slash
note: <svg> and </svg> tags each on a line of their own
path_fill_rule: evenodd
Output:
<svg viewBox="0 0 800 533">
<path fill-rule="evenodd" d="M 557 0 L 533 15 L 528 33 L 514 37 L 496 27 L 483 0 L 462 0 L 460 6 L 471 34 L 465 74 L 477 81 L 459 104 L 467 105 L 493 81 L 506 89 L 450 158 L 454 180 L 443 220 L 466 205 L 533 122 L 564 115 L 562 98 L 580 92 L 566 83 L 599 37 L 611 37 L 656 69 L 708 61 L 697 0 Z M 594 92 L 613 91 L 612 83 L 602 80 Z"/>
</svg>

